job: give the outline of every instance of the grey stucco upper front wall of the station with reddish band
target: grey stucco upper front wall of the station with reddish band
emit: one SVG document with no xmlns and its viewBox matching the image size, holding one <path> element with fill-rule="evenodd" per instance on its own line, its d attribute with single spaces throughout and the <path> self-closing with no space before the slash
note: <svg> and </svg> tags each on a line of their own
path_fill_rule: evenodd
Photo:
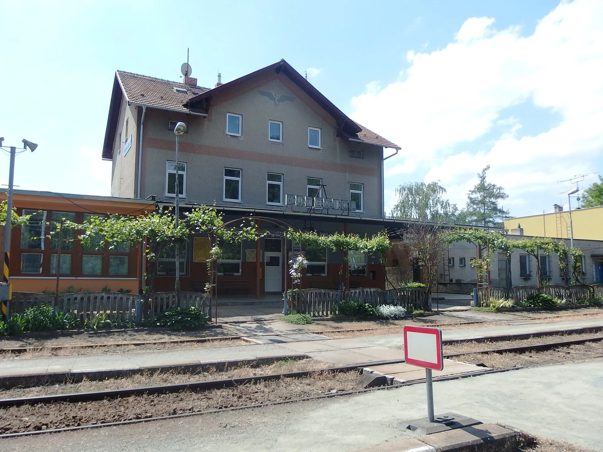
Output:
<svg viewBox="0 0 603 452">
<path fill-rule="evenodd" d="M 329 198 L 349 199 L 349 183 L 364 184 L 364 213 L 351 215 L 382 215 L 383 148 L 338 139 L 335 121 L 286 80 L 268 81 L 232 98 L 212 99 L 208 118 L 148 109 L 141 197 L 165 197 L 166 162 L 174 160 L 174 133 L 168 125 L 184 121 L 189 133 L 180 136 L 179 150 L 180 161 L 187 163 L 187 200 L 232 204 L 223 201 L 223 172 L 229 167 L 242 170 L 242 206 L 267 207 L 267 172 L 275 172 L 283 174 L 283 203 L 287 193 L 305 195 L 306 179 L 315 177 L 323 179 Z M 295 100 L 276 105 L 258 90 Z M 243 116 L 241 137 L 226 134 L 227 113 Z M 282 143 L 268 140 L 269 120 L 283 123 Z M 308 127 L 321 129 L 322 149 L 308 147 Z M 351 158 L 350 149 L 362 149 L 364 159 Z"/>
</svg>

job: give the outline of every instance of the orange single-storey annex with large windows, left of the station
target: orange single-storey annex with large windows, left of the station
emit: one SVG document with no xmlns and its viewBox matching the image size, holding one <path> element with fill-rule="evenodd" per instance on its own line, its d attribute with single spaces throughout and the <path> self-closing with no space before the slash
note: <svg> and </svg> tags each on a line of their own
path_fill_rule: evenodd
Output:
<svg viewBox="0 0 603 452">
<path fill-rule="evenodd" d="M 0 201 L 6 190 L 0 190 Z M 142 215 L 155 210 L 155 202 L 110 196 L 14 190 L 13 207 L 19 215 L 31 215 L 27 225 L 11 231 L 10 282 L 13 292 L 54 292 L 57 283 L 59 237 L 49 236 L 52 224 L 66 218 L 82 222 L 92 215 Z M 0 228 L 4 249 L 4 228 Z M 140 252 L 136 243 L 84 246 L 74 231 L 60 240 L 58 291 L 140 290 Z"/>
</svg>

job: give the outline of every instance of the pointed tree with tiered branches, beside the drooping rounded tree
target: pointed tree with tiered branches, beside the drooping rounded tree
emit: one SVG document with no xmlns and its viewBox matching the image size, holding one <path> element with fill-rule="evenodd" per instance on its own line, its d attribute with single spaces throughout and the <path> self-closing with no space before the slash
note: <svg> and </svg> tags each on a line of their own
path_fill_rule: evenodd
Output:
<svg viewBox="0 0 603 452">
<path fill-rule="evenodd" d="M 507 199 L 503 187 L 489 183 L 486 173 L 490 165 L 478 174 L 479 182 L 467 193 L 467 206 L 458 215 L 458 222 L 481 226 L 503 226 L 502 217 L 509 216 L 507 210 L 499 207 L 498 202 Z"/>
</svg>

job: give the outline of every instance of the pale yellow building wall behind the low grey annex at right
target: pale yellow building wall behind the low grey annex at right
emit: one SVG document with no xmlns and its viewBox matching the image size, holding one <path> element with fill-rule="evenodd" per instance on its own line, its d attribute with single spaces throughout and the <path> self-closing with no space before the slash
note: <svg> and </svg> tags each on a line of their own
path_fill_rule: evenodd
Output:
<svg viewBox="0 0 603 452">
<path fill-rule="evenodd" d="M 570 238 L 569 211 L 555 206 L 555 212 L 542 215 L 522 216 L 505 220 L 505 229 L 511 234 L 521 225 L 526 236 L 552 237 L 554 239 Z M 573 238 L 584 240 L 603 240 L 603 206 L 587 209 L 572 209 Z"/>
</svg>

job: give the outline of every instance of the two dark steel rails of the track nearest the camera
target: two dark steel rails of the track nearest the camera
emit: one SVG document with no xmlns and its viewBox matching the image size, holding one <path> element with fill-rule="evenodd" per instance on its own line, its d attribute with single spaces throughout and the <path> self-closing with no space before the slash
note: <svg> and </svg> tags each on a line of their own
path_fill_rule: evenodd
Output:
<svg viewBox="0 0 603 452">
<path fill-rule="evenodd" d="M 458 357 L 461 355 L 467 354 L 488 354 L 488 353 L 523 353 L 526 351 L 545 351 L 551 350 L 555 348 L 561 347 L 569 347 L 570 345 L 576 344 L 586 344 L 587 342 L 600 342 L 603 341 L 602 337 L 590 337 L 587 339 L 573 339 L 570 341 L 556 341 L 556 342 L 545 342 L 540 344 L 531 344 L 531 345 L 520 345 L 518 347 L 507 347 L 507 348 L 495 348 L 490 350 L 481 350 L 481 351 L 466 351 L 461 353 L 451 353 L 445 354 L 444 357 L 452 358 Z M 603 357 L 603 355 L 595 356 L 593 358 Z M 579 359 L 579 358 L 578 358 Z M 395 364 L 395 363 L 403 363 L 403 360 L 388 360 L 381 362 L 370 362 L 363 364 L 355 364 L 349 366 L 337 366 L 331 368 L 323 368 L 323 369 L 314 369 L 314 370 L 306 370 L 306 371 L 296 371 L 296 372 L 282 372 L 277 374 L 268 374 L 268 375 L 255 375 L 251 377 L 241 377 L 241 378 L 226 378 L 221 380 L 210 380 L 210 381 L 198 381 L 194 383 L 184 383 L 178 385 L 160 385 L 160 386 L 144 386 L 139 388 L 130 388 L 130 389 L 113 389 L 110 391 L 95 391 L 95 392 L 80 392 L 75 394 L 55 394 L 55 395 L 44 395 L 44 396 L 36 396 L 36 397 L 22 397 L 22 398 L 11 398 L 11 399 L 1 399 L 0 400 L 0 408 L 9 409 L 10 407 L 19 407 L 24 405 L 37 406 L 38 404 L 54 404 L 54 403 L 91 403 L 94 401 L 102 401 L 102 400 L 115 400 L 118 398 L 131 397 L 131 396 L 148 396 L 153 394 L 173 394 L 179 393 L 183 391 L 190 392 L 203 392 L 203 391 L 215 391 L 224 388 L 236 388 L 242 385 L 250 385 L 253 383 L 259 383 L 260 381 L 274 381 L 280 380 L 282 378 L 303 378 L 310 377 L 313 374 L 317 374 L 318 372 L 350 372 L 358 369 L 362 369 L 364 367 L 370 366 L 379 366 L 379 365 L 387 365 L 387 364 Z M 528 365 L 528 366 L 515 366 L 510 368 L 502 368 L 502 369 L 484 369 L 484 371 L 470 372 L 467 374 L 455 374 L 455 375 L 446 375 L 443 377 L 434 377 L 434 381 L 447 381 L 447 380 L 457 380 L 459 378 L 467 378 L 467 377 L 475 377 L 478 375 L 486 375 L 486 374 L 494 374 L 499 372 L 507 372 L 517 369 L 524 369 L 532 366 L 538 366 L 542 364 Z M 104 423 L 95 423 L 95 424 L 86 424 L 86 425 L 74 425 L 69 427 L 62 428 L 48 428 L 42 430 L 30 430 L 26 432 L 17 432 L 17 433 L 6 433 L 0 435 L 0 438 L 13 438 L 16 436 L 26 436 L 26 435 L 37 435 L 39 433 L 56 433 L 56 432 L 68 432 L 71 430 L 80 430 L 83 428 L 93 428 L 93 427 L 103 427 L 110 425 L 126 425 L 131 424 L 133 422 L 145 422 L 145 421 L 153 421 L 158 419 L 171 419 L 171 418 L 180 418 L 184 416 L 193 416 L 193 415 L 201 415 L 201 414 L 209 414 L 216 412 L 226 412 L 230 410 L 239 410 L 246 409 L 252 407 L 262 407 L 269 406 L 275 404 L 282 403 L 290 403 L 294 401 L 308 401 L 308 400 L 320 400 L 323 398 L 331 398 L 331 397 L 339 397 L 341 395 L 355 395 L 362 394 L 369 391 L 379 391 L 383 389 L 394 389 L 400 388 L 402 386 L 410 386 L 416 385 L 418 383 L 425 382 L 424 379 L 408 381 L 405 383 L 399 383 L 392 386 L 380 386 L 378 388 L 368 388 L 368 389 L 358 389 L 355 391 L 341 391 L 335 392 L 333 394 L 320 394 L 314 395 L 312 397 L 302 397 L 302 398 L 291 398 L 286 400 L 279 401 L 270 401 L 267 403 L 255 403 L 244 406 L 236 406 L 236 407 L 226 407 L 219 409 L 210 409 L 210 410 L 202 410 L 195 411 L 189 413 L 177 413 L 177 414 L 168 414 L 165 416 L 150 416 L 146 418 L 140 419 L 127 419 L 119 422 L 104 422 Z"/>
</svg>

